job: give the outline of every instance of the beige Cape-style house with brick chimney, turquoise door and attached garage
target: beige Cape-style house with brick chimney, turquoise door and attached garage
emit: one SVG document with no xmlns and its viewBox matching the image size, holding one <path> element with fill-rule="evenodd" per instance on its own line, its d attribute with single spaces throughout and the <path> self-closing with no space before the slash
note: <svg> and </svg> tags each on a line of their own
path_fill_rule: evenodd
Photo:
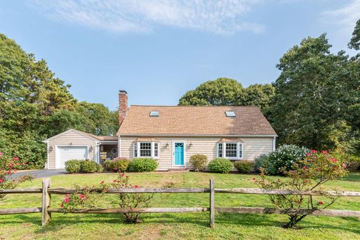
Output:
<svg viewBox="0 0 360 240">
<path fill-rule="evenodd" d="M 48 168 L 69 159 L 102 163 L 117 156 L 154 158 L 159 171 L 191 169 L 190 156 L 208 160 L 254 160 L 275 149 L 276 132 L 258 107 L 127 105 L 119 91 L 117 136 L 94 136 L 75 129 L 46 139 Z M 102 157 L 100 157 L 102 156 Z"/>
</svg>

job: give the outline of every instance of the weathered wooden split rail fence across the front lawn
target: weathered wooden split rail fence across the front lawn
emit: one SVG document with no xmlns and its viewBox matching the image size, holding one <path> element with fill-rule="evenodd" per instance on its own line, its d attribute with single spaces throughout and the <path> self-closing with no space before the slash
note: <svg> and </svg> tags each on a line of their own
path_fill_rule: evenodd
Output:
<svg viewBox="0 0 360 240">
<path fill-rule="evenodd" d="M 42 194 L 42 207 L 24 207 L 12 209 L 0 209 L 0 215 L 3 214 L 28 214 L 34 212 L 42 212 L 42 225 L 46 225 L 51 221 L 51 213 L 63 212 L 61 208 L 51 207 L 51 194 L 71 194 L 75 190 L 64 188 L 51 188 L 50 178 L 44 178 L 42 188 L 24 188 L 13 190 L 0 190 L 0 194 Z M 355 216 L 360 217 L 360 211 L 352 210 L 311 210 L 305 209 L 289 209 L 281 210 L 267 207 L 215 207 L 215 193 L 222 194 L 284 194 L 284 195 L 312 195 L 312 196 L 360 196 L 360 192 L 334 192 L 334 191 L 309 191 L 300 192 L 297 190 L 264 190 L 257 188 L 231 188 L 217 189 L 215 188 L 214 179 L 210 179 L 210 188 L 110 188 L 105 194 L 120 193 L 209 193 L 209 207 L 146 207 L 146 208 L 96 208 L 90 210 L 74 210 L 71 213 L 80 214 L 118 214 L 118 213 L 154 213 L 154 212 L 210 212 L 210 228 L 215 225 L 215 212 L 230 212 L 239 214 L 301 214 L 311 212 L 317 216 Z"/>
</svg>

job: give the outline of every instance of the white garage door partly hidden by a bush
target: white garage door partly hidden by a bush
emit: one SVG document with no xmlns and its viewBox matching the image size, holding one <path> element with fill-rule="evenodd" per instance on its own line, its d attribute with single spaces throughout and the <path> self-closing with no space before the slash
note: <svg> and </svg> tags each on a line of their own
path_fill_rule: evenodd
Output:
<svg viewBox="0 0 360 240">
<path fill-rule="evenodd" d="M 56 168 L 64 168 L 65 162 L 71 159 L 87 159 L 87 147 L 57 147 Z"/>
</svg>

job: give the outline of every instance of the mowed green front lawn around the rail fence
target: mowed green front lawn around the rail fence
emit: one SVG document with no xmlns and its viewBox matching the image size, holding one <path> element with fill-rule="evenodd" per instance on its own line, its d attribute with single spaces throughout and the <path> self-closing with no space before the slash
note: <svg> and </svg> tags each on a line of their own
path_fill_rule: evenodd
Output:
<svg viewBox="0 0 360 240">
<path fill-rule="evenodd" d="M 131 182 L 143 187 L 256 187 L 255 175 L 210 173 L 144 173 L 129 174 Z M 52 187 L 72 187 L 112 181 L 116 174 L 68 174 L 51 178 Z M 41 180 L 21 187 L 41 187 Z M 327 183 L 328 190 L 360 192 L 360 174 L 350 174 L 341 181 Z M 60 205 L 64 196 L 53 194 L 52 204 Z M 321 200 L 321 197 L 318 198 Z M 116 207 L 116 194 L 106 194 L 99 207 Z M 208 207 L 209 194 L 155 194 L 153 207 Z M 266 195 L 215 194 L 216 206 L 271 207 Z M 0 208 L 40 207 L 41 194 L 11 194 L 0 202 Z M 360 198 L 344 197 L 331 207 L 360 210 Z M 300 229 L 281 227 L 285 215 L 216 214 L 215 228 L 208 228 L 208 212 L 143 214 L 143 223 L 126 224 L 119 214 L 53 214 L 52 221 L 41 226 L 41 214 L 0 216 L 0 239 L 360 239 L 360 219 L 354 217 L 307 216 Z"/>
</svg>

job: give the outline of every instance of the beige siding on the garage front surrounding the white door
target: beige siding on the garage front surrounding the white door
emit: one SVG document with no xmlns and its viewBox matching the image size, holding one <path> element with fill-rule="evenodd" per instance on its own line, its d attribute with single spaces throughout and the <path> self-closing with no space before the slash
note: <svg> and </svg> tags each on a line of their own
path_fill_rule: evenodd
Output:
<svg viewBox="0 0 360 240">
<path fill-rule="evenodd" d="M 58 136 L 57 138 L 53 138 L 48 141 L 48 148 L 53 147 L 52 151 L 48 151 L 48 169 L 55 169 L 55 156 L 57 146 L 88 146 L 89 148 L 93 147 L 93 151 L 89 152 L 89 159 L 95 159 L 96 141 L 82 136 L 75 131 L 70 131 L 68 133 L 64 133 L 62 136 Z"/>
</svg>

